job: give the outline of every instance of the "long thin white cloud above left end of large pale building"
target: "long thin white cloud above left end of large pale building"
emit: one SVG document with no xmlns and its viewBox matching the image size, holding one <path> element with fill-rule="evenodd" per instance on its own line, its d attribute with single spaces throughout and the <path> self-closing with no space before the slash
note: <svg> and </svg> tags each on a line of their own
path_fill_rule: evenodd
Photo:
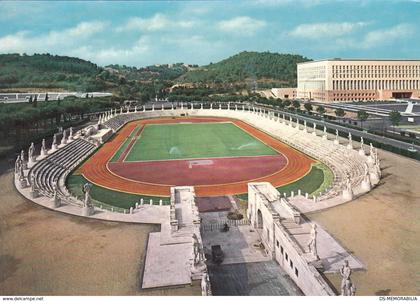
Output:
<svg viewBox="0 0 420 301">
<path fill-rule="evenodd" d="M 335 38 L 352 33 L 367 24 L 366 22 L 300 24 L 290 32 L 290 35 L 306 39 Z"/>
</svg>

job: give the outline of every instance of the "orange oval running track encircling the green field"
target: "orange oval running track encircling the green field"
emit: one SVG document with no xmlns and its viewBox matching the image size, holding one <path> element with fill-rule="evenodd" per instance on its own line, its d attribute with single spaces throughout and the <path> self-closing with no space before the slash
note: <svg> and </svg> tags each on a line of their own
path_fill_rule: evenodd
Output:
<svg viewBox="0 0 420 301">
<path fill-rule="evenodd" d="M 162 176 L 162 181 L 160 184 L 154 184 L 150 182 L 142 182 L 138 180 L 133 180 L 129 178 L 125 178 L 115 174 L 115 168 L 113 168 L 112 164 L 120 164 L 120 163 L 108 163 L 111 158 L 114 156 L 115 152 L 119 149 L 120 145 L 124 143 L 126 138 L 130 135 L 133 129 L 137 125 L 144 126 L 145 124 L 156 124 L 156 123 L 177 123 L 177 122 L 233 122 L 244 131 L 250 133 L 254 137 L 260 139 L 265 144 L 271 146 L 275 150 L 277 150 L 280 154 L 282 154 L 285 158 L 287 158 L 286 164 L 281 164 L 280 161 L 272 162 L 276 166 L 273 170 L 272 167 L 266 168 L 266 176 L 262 175 L 261 173 L 254 174 L 247 174 L 237 178 L 230 178 L 229 182 L 223 182 L 223 180 L 217 179 L 214 181 L 209 181 L 207 184 L 204 185 L 202 181 L 203 178 L 197 178 L 195 183 L 198 184 L 195 186 L 195 193 L 197 196 L 219 196 L 219 195 L 231 195 L 231 194 L 241 194 L 246 193 L 248 190 L 247 183 L 252 181 L 258 182 L 270 182 L 275 187 L 282 186 L 288 184 L 290 182 L 294 182 L 299 178 L 306 175 L 310 169 L 311 164 L 315 161 L 306 155 L 294 150 L 293 148 L 287 146 L 286 144 L 272 138 L 271 136 L 267 135 L 266 133 L 250 126 L 249 124 L 236 120 L 236 119 L 229 119 L 229 118 L 160 118 L 160 119 L 149 119 L 149 120 L 138 120 L 131 122 L 124 126 L 110 141 L 108 141 L 103 147 L 101 147 L 88 161 L 86 161 L 81 167 L 80 172 L 83 176 L 88 179 L 90 182 L 102 186 L 108 189 L 128 192 L 128 193 L 135 193 L 135 194 L 142 194 L 142 195 L 155 195 L 155 196 L 169 196 L 170 195 L 170 185 L 178 185 L 176 180 L 171 180 L 170 177 Z M 283 156 L 267 156 L 265 160 L 269 159 L 268 157 L 279 157 L 283 158 Z M 257 157 L 261 158 L 261 163 L 268 163 L 264 162 L 265 156 Z M 227 159 L 227 158 L 226 158 Z M 246 158 L 230 158 L 230 160 L 245 160 Z M 215 160 L 214 158 L 211 160 Z M 225 159 L 217 159 L 217 160 L 225 160 Z M 181 160 L 182 161 L 182 160 Z M 284 162 L 284 160 L 283 160 Z M 228 162 L 226 162 L 228 163 Z M 108 166 L 110 164 L 110 166 Z M 125 163 L 127 164 L 127 163 Z M 250 163 L 256 164 L 256 163 Z M 114 166 L 115 167 L 115 166 Z M 158 167 L 158 165 L 156 166 Z M 193 167 L 196 168 L 196 167 Z M 249 169 L 251 171 L 251 169 Z M 160 172 L 163 172 L 160 169 Z M 222 174 L 221 174 L 222 175 Z M 130 177 L 129 173 L 126 175 Z M 186 176 L 185 174 L 179 174 L 178 177 L 182 178 Z M 158 177 L 153 175 L 151 177 L 154 180 L 157 180 Z M 209 178 L 212 178 L 210 176 Z M 138 179 L 138 178 L 137 178 Z M 216 182 L 215 182 L 216 181 Z M 233 183 L 234 182 L 234 183 Z M 166 184 L 165 184 L 166 183 Z"/>
</svg>

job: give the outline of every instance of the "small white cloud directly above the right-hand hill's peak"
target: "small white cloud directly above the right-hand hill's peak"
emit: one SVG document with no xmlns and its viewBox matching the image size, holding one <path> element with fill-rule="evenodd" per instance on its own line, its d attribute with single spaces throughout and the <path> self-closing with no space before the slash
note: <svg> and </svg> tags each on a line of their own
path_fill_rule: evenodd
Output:
<svg viewBox="0 0 420 301">
<path fill-rule="evenodd" d="M 248 16 L 235 17 L 217 23 L 219 30 L 238 35 L 252 35 L 266 25 L 267 23 L 265 21 L 253 19 Z"/>
</svg>

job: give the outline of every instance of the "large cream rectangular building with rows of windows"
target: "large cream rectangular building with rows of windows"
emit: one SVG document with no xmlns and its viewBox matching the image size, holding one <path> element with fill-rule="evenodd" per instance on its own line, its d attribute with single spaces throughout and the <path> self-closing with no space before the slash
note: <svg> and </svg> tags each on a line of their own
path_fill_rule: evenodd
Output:
<svg viewBox="0 0 420 301">
<path fill-rule="evenodd" d="M 321 102 L 420 98 L 420 60 L 322 60 L 297 65 L 297 97 Z"/>
</svg>

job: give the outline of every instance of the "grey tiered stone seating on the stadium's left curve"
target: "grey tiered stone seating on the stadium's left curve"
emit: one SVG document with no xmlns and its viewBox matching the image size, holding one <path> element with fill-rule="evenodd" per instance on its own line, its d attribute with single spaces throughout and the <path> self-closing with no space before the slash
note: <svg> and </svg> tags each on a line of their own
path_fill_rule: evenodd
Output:
<svg viewBox="0 0 420 301">
<path fill-rule="evenodd" d="M 65 175 L 94 149 L 94 144 L 81 138 L 76 139 L 35 164 L 30 170 L 29 179 L 32 178 L 31 175 L 33 174 L 40 194 L 47 197 L 54 195 L 54 183 L 57 183 L 60 196 L 66 199 L 68 195 L 62 189 L 63 185 L 60 185 L 59 181 L 64 180 Z"/>
</svg>

